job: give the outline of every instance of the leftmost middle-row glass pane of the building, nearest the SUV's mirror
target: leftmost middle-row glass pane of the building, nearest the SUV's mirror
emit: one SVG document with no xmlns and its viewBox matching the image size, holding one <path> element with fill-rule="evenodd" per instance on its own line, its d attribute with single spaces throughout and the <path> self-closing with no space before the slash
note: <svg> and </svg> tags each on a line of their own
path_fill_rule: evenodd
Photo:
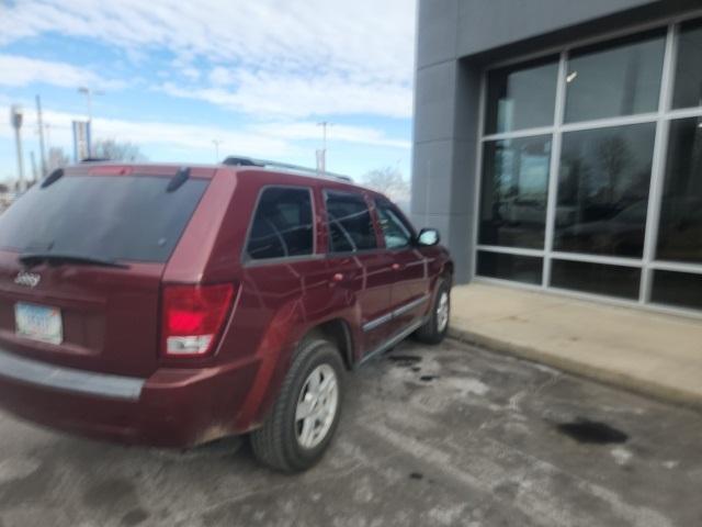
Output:
<svg viewBox="0 0 702 527">
<path fill-rule="evenodd" d="M 485 144 L 479 243 L 544 246 L 551 136 Z"/>
</svg>

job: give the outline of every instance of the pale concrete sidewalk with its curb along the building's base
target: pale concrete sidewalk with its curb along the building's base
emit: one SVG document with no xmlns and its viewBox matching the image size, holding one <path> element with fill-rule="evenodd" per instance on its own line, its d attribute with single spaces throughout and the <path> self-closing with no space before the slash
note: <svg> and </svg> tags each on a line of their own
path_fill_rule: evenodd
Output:
<svg viewBox="0 0 702 527">
<path fill-rule="evenodd" d="M 476 283 L 450 335 L 702 410 L 702 321 Z"/>
</svg>

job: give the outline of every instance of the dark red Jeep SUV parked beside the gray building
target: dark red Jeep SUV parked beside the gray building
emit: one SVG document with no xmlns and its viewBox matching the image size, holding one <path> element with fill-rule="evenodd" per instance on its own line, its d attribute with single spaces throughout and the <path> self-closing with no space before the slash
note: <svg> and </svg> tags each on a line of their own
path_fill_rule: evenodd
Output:
<svg viewBox="0 0 702 527">
<path fill-rule="evenodd" d="M 0 216 L 0 404 L 65 430 L 186 447 L 250 433 L 312 466 L 344 370 L 440 341 L 453 265 L 385 197 L 332 177 L 81 164 Z"/>
</svg>

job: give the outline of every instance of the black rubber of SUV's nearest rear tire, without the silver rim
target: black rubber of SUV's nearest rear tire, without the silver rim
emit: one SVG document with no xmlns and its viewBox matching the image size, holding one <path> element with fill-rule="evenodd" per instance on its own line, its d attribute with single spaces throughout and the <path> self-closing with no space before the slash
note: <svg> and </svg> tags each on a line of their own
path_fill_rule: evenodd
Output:
<svg viewBox="0 0 702 527">
<path fill-rule="evenodd" d="M 305 448 L 297 438 L 298 423 L 295 414 L 309 375 L 321 365 L 328 365 L 336 373 L 336 414 L 321 442 L 313 448 Z M 282 472 L 299 472 L 321 459 L 341 416 L 344 372 L 341 355 L 333 344 L 322 339 L 304 340 L 301 344 L 265 423 L 250 434 L 253 455 L 260 462 Z"/>
</svg>

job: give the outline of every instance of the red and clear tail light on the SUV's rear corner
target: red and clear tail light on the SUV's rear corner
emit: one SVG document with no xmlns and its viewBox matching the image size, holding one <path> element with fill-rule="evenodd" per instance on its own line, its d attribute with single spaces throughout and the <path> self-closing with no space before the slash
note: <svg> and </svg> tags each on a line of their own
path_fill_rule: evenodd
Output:
<svg viewBox="0 0 702 527">
<path fill-rule="evenodd" d="M 162 346 L 168 357 L 203 357 L 219 337 L 234 300 L 234 285 L 167 285 Z"/>
</svg>

